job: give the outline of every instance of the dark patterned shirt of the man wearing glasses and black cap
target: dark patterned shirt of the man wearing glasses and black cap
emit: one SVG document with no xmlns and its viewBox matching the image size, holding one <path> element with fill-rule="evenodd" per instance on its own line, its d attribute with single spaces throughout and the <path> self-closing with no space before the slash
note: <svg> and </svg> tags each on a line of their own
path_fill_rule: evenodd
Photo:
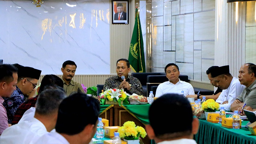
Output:
<svg viewBox="0 0 256 144">
<path fill-rule="evenodd" d="M 12 124 L 13 116 L 20 106 L 20 104 L 26 101 L 26 97 L 24 97 L 23 93 L 16 85 L 16 90 L 13 91 L 11 97 L 4 97 L 4 107 L 6 109 L 6 114 L 8 117 L 8 124 Z"/>
</svg>

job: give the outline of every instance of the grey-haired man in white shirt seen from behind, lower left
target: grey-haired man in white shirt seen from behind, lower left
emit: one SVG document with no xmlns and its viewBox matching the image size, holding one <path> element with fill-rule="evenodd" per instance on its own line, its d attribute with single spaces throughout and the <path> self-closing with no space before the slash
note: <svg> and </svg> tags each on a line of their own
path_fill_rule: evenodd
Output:
<svg viewBox="0 0 256 144">
<path fill-rule="evenodd" d="M 42 91 L 36 102 L 34 118 L 5 129 L 0 137 L 0 143 L 34 143 L 40 136 L 52 131 L 56 125 L 60 102 L 67 97 L 61 89 Z"/>
</svg>

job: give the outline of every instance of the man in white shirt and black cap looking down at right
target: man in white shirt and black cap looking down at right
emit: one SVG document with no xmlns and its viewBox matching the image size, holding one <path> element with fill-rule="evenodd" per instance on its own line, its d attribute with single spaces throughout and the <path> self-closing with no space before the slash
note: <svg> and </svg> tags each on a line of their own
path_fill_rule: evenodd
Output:
<svg viewBox="0 0 256 144">
<path fill-rule="evenodd" d="M 216 71 L 212 72 L 212 77 L 214 77 L 217 86 L 222 89 L 216 102 L 226 111 L 230 111 L 230 105 L 241 94 L 245 86 L 240 84 L 238 78 L 229 73 L 229 65 L 217 68 Z"/>
</svg>

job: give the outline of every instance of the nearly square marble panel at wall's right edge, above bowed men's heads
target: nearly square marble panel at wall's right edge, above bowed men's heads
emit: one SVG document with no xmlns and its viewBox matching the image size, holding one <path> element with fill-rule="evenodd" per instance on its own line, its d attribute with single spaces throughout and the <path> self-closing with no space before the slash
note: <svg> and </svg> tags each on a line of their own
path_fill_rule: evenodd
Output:
<svg viewBox="0 0 256 144">
<path fill-rule="evenodd" d="M 214 59 L 214 41 L 202 41 L 202 58 Z"/>
</svg>

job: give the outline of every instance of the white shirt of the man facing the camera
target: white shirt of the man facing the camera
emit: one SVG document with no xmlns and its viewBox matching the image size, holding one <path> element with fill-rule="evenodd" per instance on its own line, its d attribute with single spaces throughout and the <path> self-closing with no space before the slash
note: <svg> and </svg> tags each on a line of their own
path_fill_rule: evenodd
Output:
<svg viewBox="0 0 256 144">
<path fill-rule="evenodd" d="M 184 96 L 195 94 L 194 88 L 190 83 L 181 81 L 179 79 L 179 82 L 176 84 L 173 84 L 170 81 L 159 84 L 156 89 L 155 97 L 161 97 L 163 94 L 166 94 L 166 93 L 180 94 L 181 90 L 184 91 Z"/>
</svg>

